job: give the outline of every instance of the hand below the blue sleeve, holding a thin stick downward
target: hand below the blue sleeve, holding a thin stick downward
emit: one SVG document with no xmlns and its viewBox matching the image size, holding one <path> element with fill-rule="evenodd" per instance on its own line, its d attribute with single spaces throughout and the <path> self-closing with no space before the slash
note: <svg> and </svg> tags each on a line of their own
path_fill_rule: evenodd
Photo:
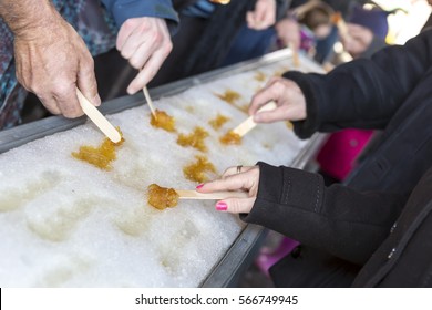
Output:
<svg viewBox="0 0 432 310">
<path fill-rule="evenodd" d="M 140 73 L 127 86 L 127 93 L 142 90 L 157 73 L 173 49 L 165 20 L 133 18 L 120 28 L 116 48 Z"/>
</svg>

